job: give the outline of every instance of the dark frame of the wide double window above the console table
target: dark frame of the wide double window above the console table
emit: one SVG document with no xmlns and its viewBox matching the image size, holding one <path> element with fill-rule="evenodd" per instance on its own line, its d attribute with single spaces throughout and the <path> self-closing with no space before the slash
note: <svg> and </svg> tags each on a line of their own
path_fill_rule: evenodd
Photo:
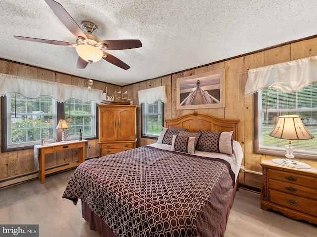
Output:
<svg viewBox="0 0 317 237">
<path fill-rule="evenodd" d="M 55 102 L 55 107 L 56 107 L 56 121 L 59 121 L 59 119 L 65 119 L 66 118 L 66 113 L 65 113 L 65 109 L 64 109 L 64 105 L 66 102 Z M 99 123 L 98 123 L 98 107 L 97 107 L 97 103 L 95 103 L 95 124 L 96 124 L 96 135 L 93 137 L 85 137 L 85 140 L 93 140 L 93 139 L 98 139 L 98 134 L 99 134 Z M 8 140 L 7 140 L 7 125 L 8 125 L 8 121 L 7 121 L 7 96 L 3 96 L 1 97 L 1 127 L 2 127 L 2 153 L 3 152 L 11 152 L 11 151 L 19 151 L 19 150 L 26 150 L 26 149 L 33 149 L 34 145 L 40 145 L 41 142 L 34 142 L 34 144 L 32 145 L 26 145 L 26 146 L 16 146 L 16 147 L 9 147 L 8 148 Z M 57 123 L 56 123 L 57 126 Z M 57 142 L 59 140 L 61 140 L 61 131 L 56 130 L 56 136 L 55 136 L 55 141 L 53 142 Z M 68 141 L 71 140 L 76 140 L 77 138 L 72 137 L 71 139 L 67 139 Z"/>
</svg>

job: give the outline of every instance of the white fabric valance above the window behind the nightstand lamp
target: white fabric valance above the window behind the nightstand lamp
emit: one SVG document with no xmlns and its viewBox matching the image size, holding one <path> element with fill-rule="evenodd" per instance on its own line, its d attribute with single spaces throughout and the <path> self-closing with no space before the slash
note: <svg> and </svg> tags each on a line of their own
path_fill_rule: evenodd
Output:
<svg viewBox="0 0 317 237">
<path fill-rule="evenodd" d="M 317 56 L 249 69 L 245 95 L 264 88 L 297 91 L 317 82 Z"/>
</svg>

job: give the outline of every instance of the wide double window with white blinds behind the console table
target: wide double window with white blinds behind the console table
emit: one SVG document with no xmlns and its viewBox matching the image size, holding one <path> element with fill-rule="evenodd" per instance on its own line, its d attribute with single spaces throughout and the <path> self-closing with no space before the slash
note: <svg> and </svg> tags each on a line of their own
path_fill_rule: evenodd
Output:
<svg viewBox="0 0 317 237">
<path fill-rule="evenodd" d="M 96 137 L 95 102 L 71 99 L 58 103 L 50 96 L 29 99 L 18 93 L 7 94 L 2 97 L 2 151 L 29 149 L 44 138 L 56 142 L 58 118 L 69 123 L 67 140 L 78 139 L 79 129 L 86 139 Z"/>
</svg>

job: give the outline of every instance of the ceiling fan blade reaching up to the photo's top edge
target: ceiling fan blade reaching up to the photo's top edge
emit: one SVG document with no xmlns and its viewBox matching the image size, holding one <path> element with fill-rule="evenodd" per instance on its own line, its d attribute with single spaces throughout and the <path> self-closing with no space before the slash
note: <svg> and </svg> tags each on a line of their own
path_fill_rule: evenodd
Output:
<svg viewBox="0 0 317 237">
<path fill-rule="evenodd" d="M 65 8 L 56 1 L 53 0 L 45 0 L 45 2 L 49 5 L 49 7 L 53 10 L 55 15 L 59 18 L 59 20 L 68 28 L 68 30 L 78 38 L 79 36 L 87 39 L 87 36 L 82 31 L 82 29 L 77 25 L 74 19 L 68 14 Z"/>
</svg>

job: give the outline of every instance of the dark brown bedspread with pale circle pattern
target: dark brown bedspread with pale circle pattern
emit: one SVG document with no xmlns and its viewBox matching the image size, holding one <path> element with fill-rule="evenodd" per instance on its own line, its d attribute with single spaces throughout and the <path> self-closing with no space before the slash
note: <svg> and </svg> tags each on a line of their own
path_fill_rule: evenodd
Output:
<svg viewBox="0 0 317 237">
<path fill-rule="evenodd" d="M 140 147 L 82 163 L 62 197 L 118 237 L 217 236 L 234 180 L 226 161 Z"/>
</svg>

